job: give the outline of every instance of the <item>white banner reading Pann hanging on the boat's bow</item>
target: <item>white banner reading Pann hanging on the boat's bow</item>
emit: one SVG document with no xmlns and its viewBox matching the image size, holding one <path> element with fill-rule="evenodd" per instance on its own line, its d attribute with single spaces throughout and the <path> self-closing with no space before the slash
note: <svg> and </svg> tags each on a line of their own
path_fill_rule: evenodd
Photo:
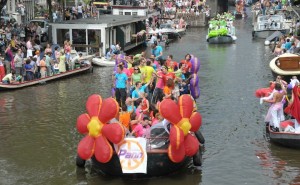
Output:
<svg viewBox="0 0 300 185">
<path fill-rule="evenodd" d="M 142 137 L 125 138 L 115 146 L 123 173 L 147 173 L 147 140 Z"/>
</svg>

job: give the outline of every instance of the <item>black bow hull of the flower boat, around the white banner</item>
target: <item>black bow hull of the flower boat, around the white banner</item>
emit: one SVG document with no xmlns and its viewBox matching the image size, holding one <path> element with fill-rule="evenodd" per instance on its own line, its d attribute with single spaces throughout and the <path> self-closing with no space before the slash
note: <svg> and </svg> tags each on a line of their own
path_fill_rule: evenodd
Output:
<svg viewBox="0 0 300 185">
<path fill-rule="evenodd" d="M 94 157 L 92 158 L 92 168 L 97 173 L 118 176 L 130 179 L 136 178 L 151 178 L 158 176 L 165 176 L 172 174 L 176 171 L 186 167 L 190 162 L 191 158 L 187 157 L 180 163 L 173 163 L 168 156 L 167 152 L 159 153 L 147 153 L 147 174 L 134 173 L 127 174 L 122 173 L 119 157 L 114 153 L 112 159 L 107 163 L 99 163 Z"/>
</svg>

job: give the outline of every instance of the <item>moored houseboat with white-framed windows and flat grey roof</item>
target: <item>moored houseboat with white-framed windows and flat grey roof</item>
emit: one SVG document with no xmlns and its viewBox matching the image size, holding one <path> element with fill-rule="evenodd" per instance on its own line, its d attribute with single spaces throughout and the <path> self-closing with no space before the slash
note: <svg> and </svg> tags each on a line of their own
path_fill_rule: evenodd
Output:
<svg viewBox="0 0 300 185">
<path fill-rule="evenodd" d="M 52 23 L 52 41 L 63 45 L 68 39 L 76 51 L 100 56 L 117 43 L 126 52 L 145 43 L 146 11 L 145 7 L 113 6 L 113 15 Z"/>
</svg>

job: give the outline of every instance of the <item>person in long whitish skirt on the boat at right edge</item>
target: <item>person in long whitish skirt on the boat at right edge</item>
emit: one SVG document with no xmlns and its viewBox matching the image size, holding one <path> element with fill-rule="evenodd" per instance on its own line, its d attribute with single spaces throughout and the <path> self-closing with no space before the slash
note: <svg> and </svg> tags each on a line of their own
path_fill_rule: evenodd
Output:
<svg viewBox="0 0 300 185">
<path fill-rule="evenodd" d="M 273 126 L 274 131 L 279 132 L 279 123 L 284 120 L 282 100 L 286 95 L 286 89 L 282 83 L 276 83 L 275 90 L 272 99 L 264 100 L 264 102 L 272 103 L 266 115 L 265 122 Z"/>
</svg>

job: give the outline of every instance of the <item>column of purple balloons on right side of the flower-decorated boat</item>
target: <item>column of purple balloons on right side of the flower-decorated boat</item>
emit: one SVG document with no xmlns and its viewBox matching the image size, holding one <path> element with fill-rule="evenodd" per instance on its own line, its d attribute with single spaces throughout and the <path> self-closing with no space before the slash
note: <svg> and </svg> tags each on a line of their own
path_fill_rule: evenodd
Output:
<svg viewBox="0 0 300 185">
<path fill-rule="evenodd" d="M 199 78 L 198 71 L 200 69 L 200 60 L 192 55 L 191 58 L 192 68 L 191 68 L 191 80 L 190 80 L 190 91 L 192 97 L 196 100 L 200 96 Z"/>
</svg>

